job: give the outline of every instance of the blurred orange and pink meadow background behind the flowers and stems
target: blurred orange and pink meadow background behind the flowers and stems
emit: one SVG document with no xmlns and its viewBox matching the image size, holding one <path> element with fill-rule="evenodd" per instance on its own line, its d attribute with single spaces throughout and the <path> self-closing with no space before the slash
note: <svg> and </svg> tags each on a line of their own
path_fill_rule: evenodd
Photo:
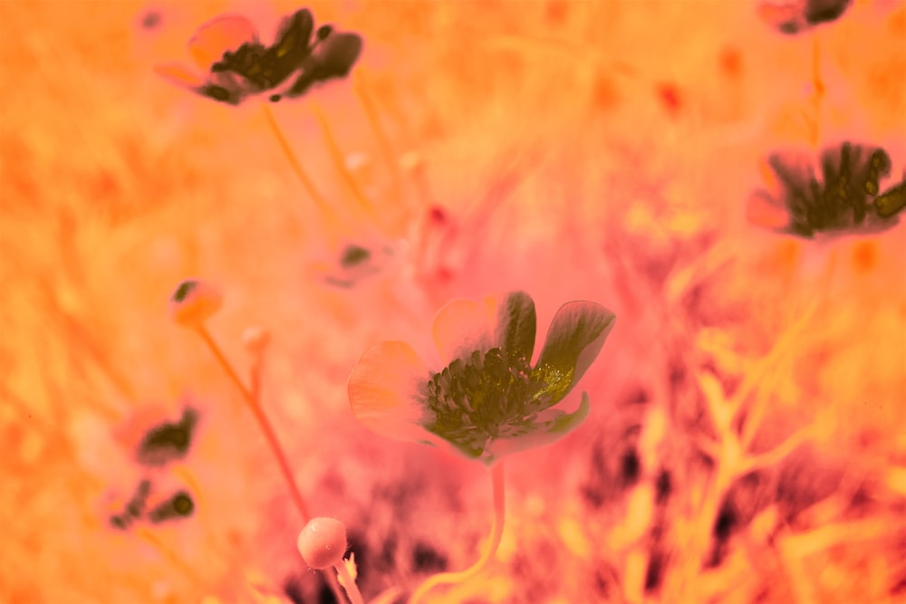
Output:
<svg viewBox="0 0 906 604">
<path fill-rule="evenodd" d="M 906 601 L 906 234 L 747 219 L 778 150 L 882 146 L 901 178 L 906 5 L 797 35 L 743 0 L 307 6 L 365 41 L 271 105 L 333 223 L 259 103 L 154 72 L 219 14 L 269 43 L 300 5 L 0 2 L 0 600 L 332 601 L 248 409 L 169 319 L 196 277 L 244 378 L 243 334 L 270 333 L 266 413 L 366 599 L 474 561 L 490 485 L 361 427 L 349 371 L 379 340 L 431 358 L 440 306 L 520 289 L 539 338 L 563 302 L 616 312 L 593 410 L 507 463 L 496 562 L 430 601 Z M 188 455 L 140 465 L 187 407 Z M 195 513 L 112 525 L 141 480 Z"/>
</svg>

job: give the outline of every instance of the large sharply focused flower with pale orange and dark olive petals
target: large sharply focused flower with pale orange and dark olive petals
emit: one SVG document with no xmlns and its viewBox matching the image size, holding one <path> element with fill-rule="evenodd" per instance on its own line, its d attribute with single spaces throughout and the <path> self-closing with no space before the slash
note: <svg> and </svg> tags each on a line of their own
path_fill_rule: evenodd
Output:
<svg viewBox="0 0 906 604">
<path fill-rule="evenodd" d="M 598 356 L 614 319 L 594 302 L 564 304 L 533 366 L 535 302 L 528 294 L 454 300 L 434 320 L 446 367 L 429 370 L 405 342 L 376 344 L 350 374 L 352 413 L 382 436 L 452 447 L 486 465 L 549 445 L 588 415 L 585 394 L 573 413 L 553 407 Z"/>
</svg>

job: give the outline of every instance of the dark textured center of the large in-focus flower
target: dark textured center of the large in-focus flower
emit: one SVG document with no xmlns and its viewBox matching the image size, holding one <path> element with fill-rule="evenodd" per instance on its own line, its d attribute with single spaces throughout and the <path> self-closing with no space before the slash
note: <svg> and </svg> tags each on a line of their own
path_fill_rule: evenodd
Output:
<svg viewBox="0 0 906 604">
<path fill-rule="evenodd" d="M 429 379 L 427 403 L 435 418 L 426 428 L 480 456 L 495 438 L 532 431 L 537 413 L 555 402 L 546 387 L 542 372 L 525 358 L 499 348 L 476 350 Z"/>
</svg>

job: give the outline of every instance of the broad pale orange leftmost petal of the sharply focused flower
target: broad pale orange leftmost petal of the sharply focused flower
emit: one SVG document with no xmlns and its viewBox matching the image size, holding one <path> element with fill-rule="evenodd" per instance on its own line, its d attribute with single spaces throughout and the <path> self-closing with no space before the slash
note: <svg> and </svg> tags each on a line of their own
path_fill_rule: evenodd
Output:
<svg viewBox="0 0 906 604">
<path fill-rule="evenodd" d="M 421 427 L 428 410 L 420 405 L 419 390 L 428 379 L 428 368 L 409 344 L 376 344 L 365 350 L 349 376 L 352 413 L 381 436 L 433 442 L 436 438 Z"/>
</svg>

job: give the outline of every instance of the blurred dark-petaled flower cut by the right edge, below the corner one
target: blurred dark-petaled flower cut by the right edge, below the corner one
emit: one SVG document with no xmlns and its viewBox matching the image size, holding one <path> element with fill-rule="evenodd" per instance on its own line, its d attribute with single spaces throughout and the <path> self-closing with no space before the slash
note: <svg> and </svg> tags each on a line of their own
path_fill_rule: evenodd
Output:
<svg viewBox="0 0 906 604">
<path fill-rule="evenodd" d="M 899 223 L 904 185 L 879 195 L 881 179 L 891 173 L 884 149 L 849 142 L 825 149 L 820 182 L 813 168 L 792 158 L 774 154 L 768 165 L 779 190 L 777 197 L 759 191 L 750 200 L 748 217 L 756 225 L 811 239 L 878 233 Z"/>
</svg>

